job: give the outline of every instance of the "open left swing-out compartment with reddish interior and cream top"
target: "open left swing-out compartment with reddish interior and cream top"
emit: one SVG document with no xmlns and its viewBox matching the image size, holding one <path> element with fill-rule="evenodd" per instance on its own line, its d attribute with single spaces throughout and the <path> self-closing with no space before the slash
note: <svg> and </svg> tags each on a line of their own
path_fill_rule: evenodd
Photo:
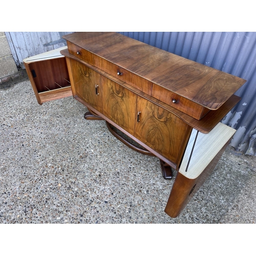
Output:
<svg viewBox="0 0 256 256">
<path fill-rule="evenodd" d="M 32 88 L 39 104 L 72 96 L 66 59 L 62 47 L 24 59 Z"/>
</svg>

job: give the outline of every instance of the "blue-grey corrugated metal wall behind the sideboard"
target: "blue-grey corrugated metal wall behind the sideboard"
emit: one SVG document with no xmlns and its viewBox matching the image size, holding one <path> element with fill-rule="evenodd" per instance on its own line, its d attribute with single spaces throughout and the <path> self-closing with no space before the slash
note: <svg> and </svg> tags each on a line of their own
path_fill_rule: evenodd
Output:
<svg viewBox="0 0 256 256">
<path fill-rule="evenodd" d="M 247 80 L 241 101 L 222 120 L 237 130 L 231 146 L 256 155 L 256 32 L 119 32 Z"/>
</svg>

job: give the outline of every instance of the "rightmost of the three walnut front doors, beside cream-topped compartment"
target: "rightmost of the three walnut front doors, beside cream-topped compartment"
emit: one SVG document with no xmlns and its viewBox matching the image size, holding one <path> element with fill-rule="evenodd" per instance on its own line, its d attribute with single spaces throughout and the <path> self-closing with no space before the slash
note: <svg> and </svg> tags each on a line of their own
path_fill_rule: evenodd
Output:
<svg viewBox="0 0 256 256">
<path fill-rule="evenodd" d="M 179 164 L 191 128 L 180 118 L 138 96 L 134 136 L 160 155 Z"/>
</svg>

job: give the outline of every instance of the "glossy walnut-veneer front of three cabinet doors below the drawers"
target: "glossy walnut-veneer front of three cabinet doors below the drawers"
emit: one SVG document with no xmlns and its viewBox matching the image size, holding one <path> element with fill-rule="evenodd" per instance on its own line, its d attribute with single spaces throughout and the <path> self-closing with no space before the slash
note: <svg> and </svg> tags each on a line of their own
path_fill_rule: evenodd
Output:
<svg viewBox="0 0 256 256">
<path fill-rule="evenodd" d="M 70 59 L 70 62 L 76 95 L 82 101 L 179 166 L 191 126 L 79 61 Z"/>
</svg>

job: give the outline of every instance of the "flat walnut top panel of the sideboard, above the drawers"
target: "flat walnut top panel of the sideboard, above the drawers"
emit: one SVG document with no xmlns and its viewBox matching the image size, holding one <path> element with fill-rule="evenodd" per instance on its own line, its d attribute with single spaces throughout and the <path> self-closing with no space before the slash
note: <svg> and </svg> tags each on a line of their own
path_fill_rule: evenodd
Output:
<svg viewBox="0 0 256 256">
<path fill-rule="evenodd" d="M 75 32 L 63 38 L 210 110 L 219 109 L 246 82 L 116 32 Z"/>
</svg>

